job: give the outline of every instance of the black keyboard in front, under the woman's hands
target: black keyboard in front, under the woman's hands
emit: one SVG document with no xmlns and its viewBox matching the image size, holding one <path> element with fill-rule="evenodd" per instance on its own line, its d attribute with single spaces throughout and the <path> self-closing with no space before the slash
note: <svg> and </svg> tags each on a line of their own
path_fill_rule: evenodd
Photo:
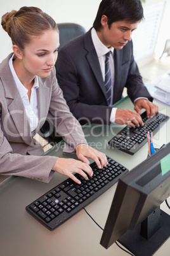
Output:
<svg viewBox="0 0 170 256">
<path fill-rule="evenodd" d="M 126 167 L 110 157 L 107 157 L 107 160 L 108 165 L 103 169 L 98 169 L 95 162 L 90 164 L 93 177 L 88 177 L 88 180 L 75 174 L 81 180 L 81 185 L 68 178 L 29 204 L 26 210 L 53 231 L 112 187 L 122 175 L 128 172 Z"/>
</svg>

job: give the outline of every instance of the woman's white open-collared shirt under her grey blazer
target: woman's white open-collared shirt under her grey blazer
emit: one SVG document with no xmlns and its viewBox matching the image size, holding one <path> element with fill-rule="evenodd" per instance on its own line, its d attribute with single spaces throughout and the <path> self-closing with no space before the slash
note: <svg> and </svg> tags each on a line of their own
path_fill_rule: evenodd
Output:
<svg viewBox="0 0 170 256">
<path fill-rule="evenodd" d="M 11 69 L 11 73 L 16 83 L 16 87 L 20 93 L 22 98 L 23 106 L 25 108 L 25 112 L 27 113 L 27 118 L 30 124 L 30 131 L 34 131 L 37 128 L 38 124 L 38 109 L 37 109 L 37 92 L 36 89 L 39 87 L 39 82 L 37 76 L 34 78 L 34 85 L 31 89 L 30 101 L 29 96 L 27 95 L 28 90 L 23 86 L 20 82 L 18 76 L 15 73 L 15 69 L 13 68 L 13 56 L 9 60 L 9 65 Z"/>
</svg>

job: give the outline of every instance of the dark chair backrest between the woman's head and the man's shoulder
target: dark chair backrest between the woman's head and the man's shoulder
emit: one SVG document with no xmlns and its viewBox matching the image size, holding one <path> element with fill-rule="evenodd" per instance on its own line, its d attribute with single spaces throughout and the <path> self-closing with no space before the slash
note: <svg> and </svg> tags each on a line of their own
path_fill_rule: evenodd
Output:
<svg viewBox="0 0 170 256">
<path fill-rule="evenodd" d="M 57 25 L 60 31 L 60 48 L 70 40 L 77 38 L 77 36 L 81 36 L 86 32 L 86 29 L 84 29 L 82 25 L 75 23 L 59 23 Z"/>
</svg>

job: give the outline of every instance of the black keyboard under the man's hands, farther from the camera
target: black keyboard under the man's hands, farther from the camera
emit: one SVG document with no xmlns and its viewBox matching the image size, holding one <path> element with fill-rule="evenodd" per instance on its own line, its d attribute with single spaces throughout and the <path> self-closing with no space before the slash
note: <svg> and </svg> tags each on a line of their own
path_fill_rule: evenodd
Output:
<svg viewBox="0 0 170 256">
<path fill-rule="evenodd" d="M 141 118 L 144 126 L 133 128 L 127 125 L 114 138 L 110 139 L 108 144 L 133 155 L 147 143 L 147 132 L 155 134 L 169 119 L 169 117 L 162 113 L 156 113 L 154 117 L 147 118 L 147 111 L 141 114 Z"/>
</svg>

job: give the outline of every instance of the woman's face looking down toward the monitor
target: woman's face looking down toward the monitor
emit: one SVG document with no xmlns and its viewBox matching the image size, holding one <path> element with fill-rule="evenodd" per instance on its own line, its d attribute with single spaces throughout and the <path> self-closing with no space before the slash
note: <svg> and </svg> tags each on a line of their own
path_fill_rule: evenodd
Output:
<svg viewBox="0 0 170 256">
<path fill-rule="evenodd" d="M 59 33 L 47 30 L 41 36 L 32 36 L 29 45 L 22 52 L 24 73 L 41 78 L 49 76 L 58 57 Z"/>
</svg>

